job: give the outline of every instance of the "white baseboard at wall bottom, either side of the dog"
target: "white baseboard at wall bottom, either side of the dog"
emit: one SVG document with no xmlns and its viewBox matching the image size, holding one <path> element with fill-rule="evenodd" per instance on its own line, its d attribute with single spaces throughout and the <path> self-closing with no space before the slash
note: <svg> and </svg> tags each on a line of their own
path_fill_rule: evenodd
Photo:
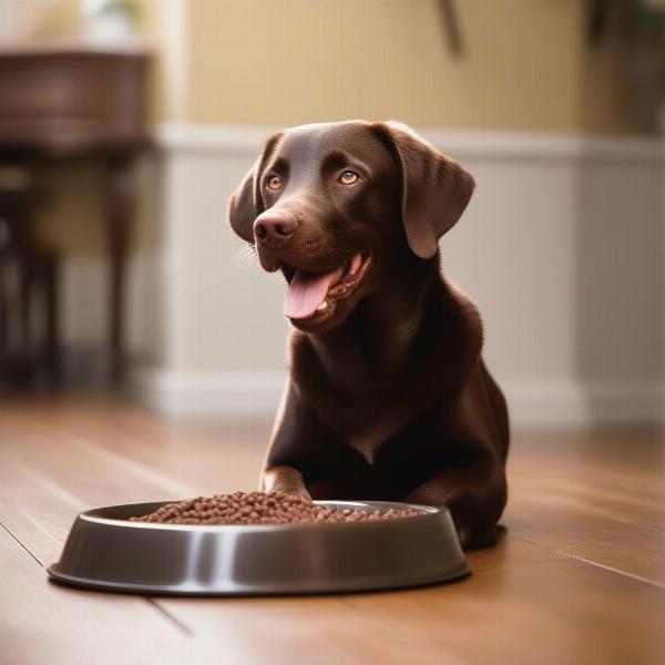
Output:
<svg viewBox="0 0 665 665">
<path fill-rule="evenodd" d="M 191 374 L 141 371 L 137 399 L 173 418 L 270 418 L 277 410 L 283 372 Z M 502 385 L 514 428 L 586 429 L 665 424 L 657 381 L 610 381 L 584 387 L 567 381 Z"/>
</svg>

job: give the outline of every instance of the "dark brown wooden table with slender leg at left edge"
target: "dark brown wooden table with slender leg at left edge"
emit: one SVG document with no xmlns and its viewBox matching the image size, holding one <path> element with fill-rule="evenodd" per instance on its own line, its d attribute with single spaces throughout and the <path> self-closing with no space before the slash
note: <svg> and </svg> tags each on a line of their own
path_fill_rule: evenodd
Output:
<svg viewBox="0 0 665 665">
<path fill-rule="evenodd" d="M 110 374 L 122 376 L 131 163 L 147 145 L 149 54 L 78 43 L 0 48 L 0 163 L 39 168 L 94 157 L 106 173 Z"/>
</svg>

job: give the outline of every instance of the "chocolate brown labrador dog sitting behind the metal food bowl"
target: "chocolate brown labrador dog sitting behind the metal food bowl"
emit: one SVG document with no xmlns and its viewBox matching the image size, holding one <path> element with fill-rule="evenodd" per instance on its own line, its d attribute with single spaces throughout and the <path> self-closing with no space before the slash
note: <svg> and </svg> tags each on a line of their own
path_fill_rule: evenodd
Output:
<svg viewBox="0 0 665 665">
<path fill-rule="evenodd" d="M 295 328 L 265 491 L 444 503 L 463 546 L 495 541 L 508 411 L 480 315 L 438 252 L 473 186 L 399 123 L 268 140 L 228 204 L 263 268 L 286 278 Z"/>
</svg>

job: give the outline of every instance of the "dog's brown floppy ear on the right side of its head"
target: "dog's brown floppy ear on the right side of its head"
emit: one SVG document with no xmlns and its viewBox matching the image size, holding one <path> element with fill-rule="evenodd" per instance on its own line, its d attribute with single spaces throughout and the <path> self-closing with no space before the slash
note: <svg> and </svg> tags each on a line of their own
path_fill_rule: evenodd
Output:
<svg viewBox="0 0 665 665">
<path fill-rule="evenodd" d="M 439 238 L 461 217 L 475 183 L 457 162 L 398 122 L 372 123 L 401 171 L 402 221 L 409 247 L 431 258 Z"/>
</svg>

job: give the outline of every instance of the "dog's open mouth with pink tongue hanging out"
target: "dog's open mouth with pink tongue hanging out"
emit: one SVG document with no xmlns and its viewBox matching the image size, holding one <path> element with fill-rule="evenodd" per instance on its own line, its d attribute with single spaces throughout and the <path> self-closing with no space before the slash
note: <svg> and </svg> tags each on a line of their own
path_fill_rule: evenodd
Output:
<svg viewBox="0 0 665 665">
<path fill-rule="evenodd" d="M 328 273 L 309 273 L 301 268 L 284 266 L 287 278 L 290 277 L 284 314 L 290 319 L 307 319 L 321 316 L 341 298 L 351 295 L 371 262 L 370 254 L 354 254 L 347 263 Z"/>
</svg>

